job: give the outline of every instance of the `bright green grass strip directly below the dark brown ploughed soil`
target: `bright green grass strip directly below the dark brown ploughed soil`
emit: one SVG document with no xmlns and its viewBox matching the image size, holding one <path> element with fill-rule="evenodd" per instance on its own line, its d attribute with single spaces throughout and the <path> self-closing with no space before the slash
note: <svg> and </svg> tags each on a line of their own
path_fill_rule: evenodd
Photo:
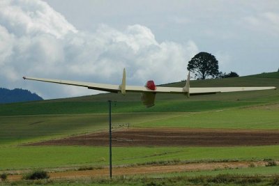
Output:
<svg viewBox="0 0 279 186">
<path fill-rule="evenodd" d="M 107 166 L 108 147 L 29 146 L 1 147 L 0 170 L 57 168 L 71 166 Z M 223 161 L 279 160 L 279 146 L 247 147 L 115 147 L 113 164 L 144 164 L 160 160 Z"/>
</svg>

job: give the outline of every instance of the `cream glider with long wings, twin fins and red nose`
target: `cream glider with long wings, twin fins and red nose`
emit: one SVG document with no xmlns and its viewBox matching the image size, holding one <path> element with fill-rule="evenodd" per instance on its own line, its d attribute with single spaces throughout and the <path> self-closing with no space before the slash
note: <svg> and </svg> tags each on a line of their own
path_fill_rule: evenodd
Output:
<svg viewBox="0 0 279 186">
<path fill-rule="evenodd" d="M 98 91 L 107 91 L 111 93 L 122 93 L 126 92 L 136 92 L 142 93 L 142 103 L 146 107 L 152 107 L 155 102 L 156 93 L 178 93 L 184 94 L 186 96 L 190 95 L 203 95 L 203 94 L 213 94 L 213 93 L 225 93 L 225 92 L 236 92 L 236 91 L 259 91 L 259 90 L 269 90 L 276 89 L 275 86 L 265 86 L 265 87 L 207 87 L 207 88 L 190 88 L 190 72 L 188 73 L 186 85 L 183 88 L 180 87 L 164 87 L 156 86 L 153 80 L 146 82 L 145 86 L 128 86 L 126 85 L 126 70 L 123 70 L 122 82 L 120 85 L 114 84 L 96 84 L 90 82 L 75 82 L 68 80 L 59 79 L 43 79 L 36 77 L 23 77 L 23 79 L 29 79 L 39 82 L 50 82 L 55 84 L 68 84 L 73 86 L 84 86 L 89 89 L 94 89 Z"/>
</svg>

